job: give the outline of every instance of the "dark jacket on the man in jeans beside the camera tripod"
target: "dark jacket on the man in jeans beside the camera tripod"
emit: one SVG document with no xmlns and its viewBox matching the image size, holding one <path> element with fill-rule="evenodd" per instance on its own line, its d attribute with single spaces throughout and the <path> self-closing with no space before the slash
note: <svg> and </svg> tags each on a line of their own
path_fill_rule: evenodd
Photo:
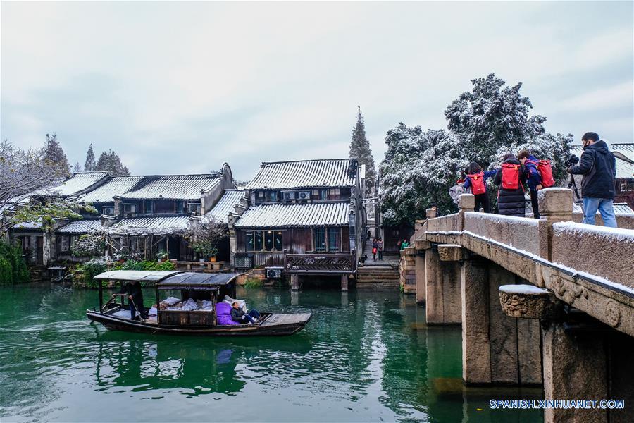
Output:
<svg viewBox="0 0 634 423">
<path fill-rule="evenodd" d="M 577 166 L 571 173 L 583 175 L 581 178 L 581 196 L 588 198 L 607 198 L 614 200 L 614 178 L 616 177 L 616 159 L 604 141 L 589 145 L 581 154 Z"/>
</svg>

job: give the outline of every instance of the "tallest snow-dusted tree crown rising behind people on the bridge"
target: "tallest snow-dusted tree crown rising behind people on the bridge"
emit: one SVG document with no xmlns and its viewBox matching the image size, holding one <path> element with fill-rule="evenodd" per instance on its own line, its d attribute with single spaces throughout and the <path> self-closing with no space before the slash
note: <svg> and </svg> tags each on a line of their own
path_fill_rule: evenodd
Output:
<svg viewBox="0 0 634 423">
<path fill-rule="evenodd" d="M 521 96 L 521 82 L 504 87 L 506 82 L 491 73 L 471 83 L 473 89 L 445 110 L 447 128 L 460 137 L 466 157 L 486 168 L 499 147 L 521 145 L 545 133 L 546 118 L 528 116 L 533 104 Z"/>
</svg>

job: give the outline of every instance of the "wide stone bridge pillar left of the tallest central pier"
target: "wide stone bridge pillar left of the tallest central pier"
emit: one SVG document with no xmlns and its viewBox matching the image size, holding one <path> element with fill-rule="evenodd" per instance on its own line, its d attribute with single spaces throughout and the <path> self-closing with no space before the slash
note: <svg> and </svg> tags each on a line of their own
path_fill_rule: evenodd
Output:
<svg viewBox="0 0 634 423">
<path fill-rule="evenodd" d="M 459 245 L 438 245 L 425 252 L 427 324 L 461 324 Z"/>
</svg>

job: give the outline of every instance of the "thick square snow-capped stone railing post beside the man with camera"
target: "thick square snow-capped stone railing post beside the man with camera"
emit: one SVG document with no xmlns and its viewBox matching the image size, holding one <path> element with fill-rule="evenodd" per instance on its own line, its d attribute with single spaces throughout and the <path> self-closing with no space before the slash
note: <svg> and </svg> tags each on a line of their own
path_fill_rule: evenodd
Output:
<svg viewBox="0 0 634 423">
<path fill-rule="evenodd" d="M 537 192 L 540 206 L 540 257 L 552 259 L 552 224 L 573 219 L 573 193 L 566 188 L 545 188 Z M 543 286 L 543 285 L 542 285 Z"/>
</svg>

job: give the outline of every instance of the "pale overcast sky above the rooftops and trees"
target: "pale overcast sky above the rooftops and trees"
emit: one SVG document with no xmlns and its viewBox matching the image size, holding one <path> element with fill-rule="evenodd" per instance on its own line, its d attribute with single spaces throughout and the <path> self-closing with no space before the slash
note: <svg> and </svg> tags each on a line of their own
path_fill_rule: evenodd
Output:
<svg viewBox="0 0 634 423">
<path fill-rule="evenodd" d="M 0 137 L 250 180 L 262 161 L 347 157 L 358 105 L 378 163 L 387 130 L 446 128 L 495 73 L 548 132 L 632 142 L 633 4 L 2 1 Z"/>
</svg>

